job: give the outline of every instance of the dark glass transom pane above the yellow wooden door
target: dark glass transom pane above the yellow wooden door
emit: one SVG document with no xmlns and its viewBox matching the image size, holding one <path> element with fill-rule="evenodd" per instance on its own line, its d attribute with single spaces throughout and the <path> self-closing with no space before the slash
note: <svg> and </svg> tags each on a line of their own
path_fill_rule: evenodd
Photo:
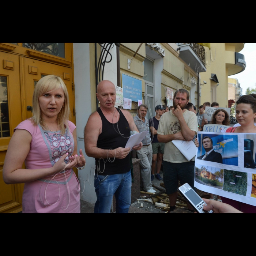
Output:
<svg viewBox="0 0 256 256">
<path fill-rule="evenodd" d="M 22 46 L 65 58 L 65 43 L 22 43 Z"/>
</svg>

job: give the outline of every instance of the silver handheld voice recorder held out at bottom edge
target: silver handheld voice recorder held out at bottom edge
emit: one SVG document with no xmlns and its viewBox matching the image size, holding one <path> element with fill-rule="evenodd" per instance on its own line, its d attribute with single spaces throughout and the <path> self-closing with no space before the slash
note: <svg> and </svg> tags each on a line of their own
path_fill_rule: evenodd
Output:
<svg viewBox="0 0 256 256">
<path fill-rule="evenodd" d="M 213 211 L 205 211 L 203 209 L 207 204 L 188 184 L 181 186 L 179 191 L 185 197 L 185 199 L 188 200 L 189 204 L 195 209 L 196 212 L 207 214 L 213 213 Z"/>
</svg>

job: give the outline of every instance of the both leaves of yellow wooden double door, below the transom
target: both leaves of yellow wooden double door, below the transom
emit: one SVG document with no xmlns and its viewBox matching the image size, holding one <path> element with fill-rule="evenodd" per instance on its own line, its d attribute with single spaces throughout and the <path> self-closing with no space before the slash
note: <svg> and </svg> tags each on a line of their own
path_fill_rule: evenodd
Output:
<svg viewBox="0 0 256 256">
<path fill-rule="evenodd" d="M 4 183 L 4 159 L 14 128 L 33 115 L 30 107 L 35 84 L 45 75 L 57 75 L 63 79 L 69 94 L 69 120 L 75 123 L 71 67 L 31 59 L 21 54 L 0 52 L 0 213 L 22 211 L 24 184 Z M 78 175 L 77 170 L 74 171 Z"/>
</svg>

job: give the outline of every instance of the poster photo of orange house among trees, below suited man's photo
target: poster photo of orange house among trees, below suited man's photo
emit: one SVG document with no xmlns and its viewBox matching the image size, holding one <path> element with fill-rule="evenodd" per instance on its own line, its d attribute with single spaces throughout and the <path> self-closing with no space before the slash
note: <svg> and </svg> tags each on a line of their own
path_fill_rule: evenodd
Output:
<svg viewBox="0 0 256 256">
<path fill-rule="evenodd" d="M 196 165 L 196 182 L 208 187 L 223 188 L 224 170 L 211 166 Z"/>
</svg>

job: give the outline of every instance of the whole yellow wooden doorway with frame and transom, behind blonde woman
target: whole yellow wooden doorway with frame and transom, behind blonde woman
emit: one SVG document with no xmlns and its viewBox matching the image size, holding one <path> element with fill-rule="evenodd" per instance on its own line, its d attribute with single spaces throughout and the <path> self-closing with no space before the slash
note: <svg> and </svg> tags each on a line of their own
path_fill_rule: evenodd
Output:
<svg viewBox="0 0 256 256">
<path fill-rule="evenodd" d="M 38 47 L 37 44 L 65 44 L 65 49 L 63 45 L 59 49 L 65 58 L 59 57 L 56 45 L 40 52 L 39 48 L 34 49 L 31 45 L 29 48 L 24 44 Z M 22 211 L 24 184 L 4 183 L 4 159 L 15 127 L 33 116 L 34 88 L 45 75 L 57 75 L 63 79 L 69 93 L 69 120 L 75 123 L 72 43 L 0 43 L 0 213 Z"/>
</svg>

